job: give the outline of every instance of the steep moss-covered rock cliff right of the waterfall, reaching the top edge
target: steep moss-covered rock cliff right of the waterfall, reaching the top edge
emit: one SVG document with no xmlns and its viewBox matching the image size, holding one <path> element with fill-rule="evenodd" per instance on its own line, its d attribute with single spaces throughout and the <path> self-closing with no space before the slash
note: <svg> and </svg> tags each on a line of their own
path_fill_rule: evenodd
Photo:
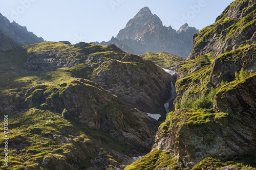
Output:
<svg viewBox="0 0 256 170">
<path fill-rule="evenodd" d="M 176 110 L 160 125 L 154 149 L 193 169 L 222 168 L 224 155 L 233 165 L 235 158 L 247 164 L 241 156 L 255 160 L 254 27 L 255 2 L 237 0 L 195 34 L 189 58 L 176 67 Z"/>
</svg>

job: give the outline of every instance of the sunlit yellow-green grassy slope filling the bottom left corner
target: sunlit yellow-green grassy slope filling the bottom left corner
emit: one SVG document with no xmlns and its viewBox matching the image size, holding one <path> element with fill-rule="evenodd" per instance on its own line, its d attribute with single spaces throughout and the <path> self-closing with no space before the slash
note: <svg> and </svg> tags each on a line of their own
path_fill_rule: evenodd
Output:
<svg viewBox="0 0 256 170">
<path fill-rule="evenodd" d="M 76 120 L 67 120 L 51 110 L 31 108 L 16 115 L 9 114 L 8 122 L 9 169 L 67 168 L 78 160 L 86 160 L 75 168 L 82 169 L 90 165 L 86 157 L 94 154 L 99 147 L 106 151 L 115 148 L 116 151 L 126 152 L 125 147 L 105 132 L 88 129 Z M 1 153 L 4 153 L 3 148 L 1 139 Z M 50 163 L 44 165 L 44 160 Z M 3 157 L 1 167 L 5 167 Z"/>
</svg>

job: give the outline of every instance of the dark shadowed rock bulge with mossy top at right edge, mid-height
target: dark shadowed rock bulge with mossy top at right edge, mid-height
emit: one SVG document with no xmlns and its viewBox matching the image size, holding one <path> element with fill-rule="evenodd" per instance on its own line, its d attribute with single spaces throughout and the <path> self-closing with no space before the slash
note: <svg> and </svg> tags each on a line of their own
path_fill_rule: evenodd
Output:
<svg viewBox="0 0 256 170">
<path fill-rule="evenodd" d="M 255 74 L 253 74 L 255 75 Z M 236 80 L 223 87 L 215 98 L 215 107 L 220 112 L 237 113 L 245 124 L 254 127 L 256 110 L 256 76 Z"/>
</svg>

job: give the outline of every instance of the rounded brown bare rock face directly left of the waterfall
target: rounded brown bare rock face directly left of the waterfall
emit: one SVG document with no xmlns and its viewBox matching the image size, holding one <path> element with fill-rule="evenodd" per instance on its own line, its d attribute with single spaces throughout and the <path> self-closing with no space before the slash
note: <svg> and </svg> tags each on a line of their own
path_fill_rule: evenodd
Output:
<svg viewBox="0 0 256 170">
<path fill-rule="evenodd" d="M 104 69 L 100 66 L 93 82 L 110 90 L 130 106 L 165 117 L 163 104 L 168 97 L 163 96 L 170 94 L 170 83 L 175 78 L 159 69 L 152 61 L 143 61 L 135 55 L 124 56 L 120 61 L 108 61 Z M 141 64 L 127 63 L 131 61 Z"/>
</svg>

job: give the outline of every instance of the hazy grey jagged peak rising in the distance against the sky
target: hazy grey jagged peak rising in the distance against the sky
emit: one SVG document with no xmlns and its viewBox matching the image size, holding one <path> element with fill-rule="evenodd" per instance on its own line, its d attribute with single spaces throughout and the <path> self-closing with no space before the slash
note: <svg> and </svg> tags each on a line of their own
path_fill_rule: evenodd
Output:
<svg viewBox="0 0 256 170">
<path fill-rule="evenodd" d="M 100 44 L 115 44 L 124 52 L 137 55 L 167 52 L 187 58 L 193 48 L 193 35 L 196 32 L 198 30 L 188 27 L 187 23 L 178 31 L 171 26 L 165 27 L 156 14 L 144 7 L 127 22 L 116 38 L 112 37 L 110 41 Z"/>
</svg>

